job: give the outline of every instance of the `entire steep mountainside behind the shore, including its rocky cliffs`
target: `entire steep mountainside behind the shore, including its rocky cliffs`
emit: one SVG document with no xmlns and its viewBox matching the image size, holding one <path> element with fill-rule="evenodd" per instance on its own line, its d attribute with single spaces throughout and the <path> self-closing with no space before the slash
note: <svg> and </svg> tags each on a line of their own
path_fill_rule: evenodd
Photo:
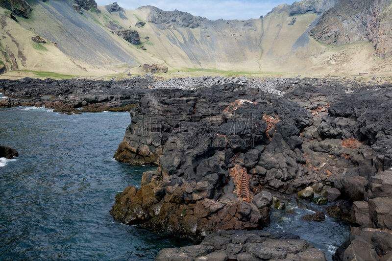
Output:
<svg viewBox="0 0 392 261">
<path fill-rule="evenodd" d="M 25 0 L 1 1 L 5 6 L 3 2 Z M 154 63 L 169 72 L 391 71 L 390 1 L 350 7 L 350 0 L 302 0 L 279 5 L 260 19 L 210 21 L 153 6 L 126 10 L 117 3 L 96 7 L 94 0 L 29 0 L 28 15 L 15 18 L 18 12 L 12 7 L 0 8 L 0 67 L 80 76 L 123 75 L 129 69 L 144 73 L 142 65 Z M 365 14 L 370 22 L 361 27 Z M 339 23 L 347 21 L 344 31 Z M 343 37 L 350 34 L 355 37 Z M 47 43 L 33 42 L 36 35 Z"/>
</svg>

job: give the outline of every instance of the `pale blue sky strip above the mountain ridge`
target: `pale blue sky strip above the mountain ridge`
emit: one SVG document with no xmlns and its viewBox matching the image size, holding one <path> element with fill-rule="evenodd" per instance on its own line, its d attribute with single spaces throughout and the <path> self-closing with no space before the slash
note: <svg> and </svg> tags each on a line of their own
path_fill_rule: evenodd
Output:
<svg viewBox="0 0 392 261">
<path fill-rule="evenodd" d="M 113 3 L 114 0 L 96 0 L 98 5 Z M 153 5 L 165 11 L 179 10 L 210 20 L 250 19 L 266 15 L 273 7 L 292 4 L 294 0 L 117 0 L 125 9 L 136 9 L 142 5 Z"/>
</svg>

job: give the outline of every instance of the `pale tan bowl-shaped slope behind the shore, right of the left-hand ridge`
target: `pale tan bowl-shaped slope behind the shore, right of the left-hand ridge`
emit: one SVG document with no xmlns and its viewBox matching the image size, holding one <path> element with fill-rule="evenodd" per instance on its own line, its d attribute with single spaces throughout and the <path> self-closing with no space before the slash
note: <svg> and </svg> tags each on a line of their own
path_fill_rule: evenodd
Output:
<svg viewBox="0 0 392 261">
<path fill-rule="evenodd" d="M 206 29 L 176 28 L 161 30 L 148 23 L 149 8 L 102 14 L 124 27 L 137 29 L 147 52 L 165 61 L 172 69 L 218 69 L 248 73 L 282 72 L 307 75 L 353 74 L 359 71 L 390 71 L 391 59 L 379 59 L 367 43 L 342 47 L 327 46 L 309 37 L 316 14 L 289 16 L 287 5 L 274 9 L 263 19 L 248 21 L 211 21 Z M 292 19 L 296 22 L 289 25 Z M 136 28 L 139 20 L 147 24 Z M 248 22 L 252 26 L 246 27 Z M 226 26 L 226 24 L 228 24 Z M 149 37 L 149 40 L 145 40 Z M 192 59 L 196 56 L 196 59 Z M 388 70 L 390 69 L 390 70 Z"/>
</svg>

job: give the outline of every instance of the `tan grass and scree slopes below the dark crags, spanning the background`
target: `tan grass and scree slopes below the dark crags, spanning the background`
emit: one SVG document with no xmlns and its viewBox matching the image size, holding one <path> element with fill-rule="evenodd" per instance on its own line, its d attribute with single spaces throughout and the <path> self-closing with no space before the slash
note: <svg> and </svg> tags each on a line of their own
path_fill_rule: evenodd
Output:
<svg viewBox="0 0 392 261">
<path fill-rule="evenodd" d="M 99 6 L 100 13 L 91 10 L 80 15 L 72 9 L 71 1 L 31 1 L 34 4 L 30 19 L 18 18 L 19 23 L 6 17 L 6 10 L 0 9 L 1 24 L 4 24 L 0 43 L 10 56 L 15 56 L 17 66 L 13 69 L 104 78 L 123 77 L 126 72 L 143 74 L 139 66 L 145 63 L 166 64 L 174 76 L 320 76 L 392 71 L 392 58 L 377 58 L 369 43 L 333 47 L 315 41 L 307 32 L 319 17 L 289 16 L 287 5 L 278 6 L 263 19 L 206 20 L 203 26 L 193 29 L 161 29 L 148 22 L 149 7 L 124 10 L 120 15 Z M 295 23 L 289 25 L 293 18 Z M 105 27 L 109 21 L 136 29 L 141 45 L 134 46 L 112 33 Z M 138 21 L 146 25 L 137 28 Z M 34 35 L 48 40 L 42 45 L 45 48 L 31 41 Z M 11 64 L 12 61 L 8 69 Z M 18 71 L 1 77 L 26 75 L 49 74 Z"/>
</svg>

